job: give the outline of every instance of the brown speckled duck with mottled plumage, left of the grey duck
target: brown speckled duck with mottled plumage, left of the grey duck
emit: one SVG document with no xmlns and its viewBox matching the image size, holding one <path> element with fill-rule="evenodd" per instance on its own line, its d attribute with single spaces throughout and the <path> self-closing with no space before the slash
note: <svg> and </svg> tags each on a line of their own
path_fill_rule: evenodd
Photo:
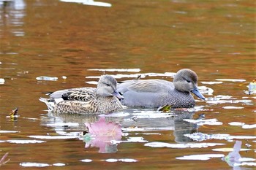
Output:
<svg viewBox="0 0 256 170">
<path fill-rule="evenodd" d="M 123 109 L 116 91 L 116 79 L 110 75 L 99 78 L 97 88 L 71 88 L 48 93 L 50 98 L 39 98 L 50 111 L 57 113 L 110 113 Z M 118 99 L 119 98 L 119 99 Z"/>
</svg>

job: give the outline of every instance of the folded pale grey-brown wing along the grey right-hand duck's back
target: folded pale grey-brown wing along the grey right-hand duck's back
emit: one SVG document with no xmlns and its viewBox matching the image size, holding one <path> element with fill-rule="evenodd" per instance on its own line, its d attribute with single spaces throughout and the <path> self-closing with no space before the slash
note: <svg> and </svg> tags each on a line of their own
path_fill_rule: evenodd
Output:
<svg viewBox="0 0 256 170">
<path fill-rule="evenodd" d="M 137 93 L 159 93 L 173 87 L 172 82 L 165 80 L 127 80 L 118 84 L 117 90 L 121 93 L 134 91 Z"/>
</svg>

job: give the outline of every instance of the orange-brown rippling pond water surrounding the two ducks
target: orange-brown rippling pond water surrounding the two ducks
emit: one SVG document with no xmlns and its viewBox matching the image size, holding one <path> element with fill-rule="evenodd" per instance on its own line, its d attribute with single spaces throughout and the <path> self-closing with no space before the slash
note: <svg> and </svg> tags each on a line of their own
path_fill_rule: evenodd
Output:
<svg viewBox="0 0 256 170">
<path fill-rule="evenodd" d="M 255 169 L 256 96 L 245 93 L 255 80 L 253 5 L 0 1 L 0 158 L 10 159 L 1 168 Z M 197 72 L 206 97 L 195 109 L 56 115 L 38 100 L 95 87 L 102 74 L 172 81 L 184 68 Z M 19 117 L 7 117 L 16 107 Z M 84 123 L 105 125 L 110 136 L 81 136 Z M 222 161 L 236 141 L 243 159 Z"/>
</svg>

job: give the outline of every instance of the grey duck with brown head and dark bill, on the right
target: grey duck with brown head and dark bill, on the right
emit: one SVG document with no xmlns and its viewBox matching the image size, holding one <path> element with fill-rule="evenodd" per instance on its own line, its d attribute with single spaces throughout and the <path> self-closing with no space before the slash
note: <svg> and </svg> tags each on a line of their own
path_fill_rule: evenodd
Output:
<svg viewBox="0 0 256 170">
<path fill-rule="evenodd" d="M 124 96 L 121 104 L 127 107 L 195 107 L 191 93 L 205 99 L 197 88 L 197 74 L 190 69 L 181 69 L 173 82 L 166 80 L 127 80 L 117 86 Z M 191 93 L 190 93 L 191 92 Z"/>
</svg>

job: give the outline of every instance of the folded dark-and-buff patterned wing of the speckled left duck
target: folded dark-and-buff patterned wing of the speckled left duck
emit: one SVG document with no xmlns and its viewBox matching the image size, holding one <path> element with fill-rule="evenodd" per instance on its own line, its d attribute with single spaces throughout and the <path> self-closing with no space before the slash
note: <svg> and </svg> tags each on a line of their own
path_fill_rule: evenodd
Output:
<svg viewBox="0 0 256 170">
<path fill-rule="evenodd" d="M 91 101 L 97 98 L 96 88 L 71 88 L 58 90 L 50 94 L 50 98 L 63 98 L 69 101 Z"/>
</svg>

